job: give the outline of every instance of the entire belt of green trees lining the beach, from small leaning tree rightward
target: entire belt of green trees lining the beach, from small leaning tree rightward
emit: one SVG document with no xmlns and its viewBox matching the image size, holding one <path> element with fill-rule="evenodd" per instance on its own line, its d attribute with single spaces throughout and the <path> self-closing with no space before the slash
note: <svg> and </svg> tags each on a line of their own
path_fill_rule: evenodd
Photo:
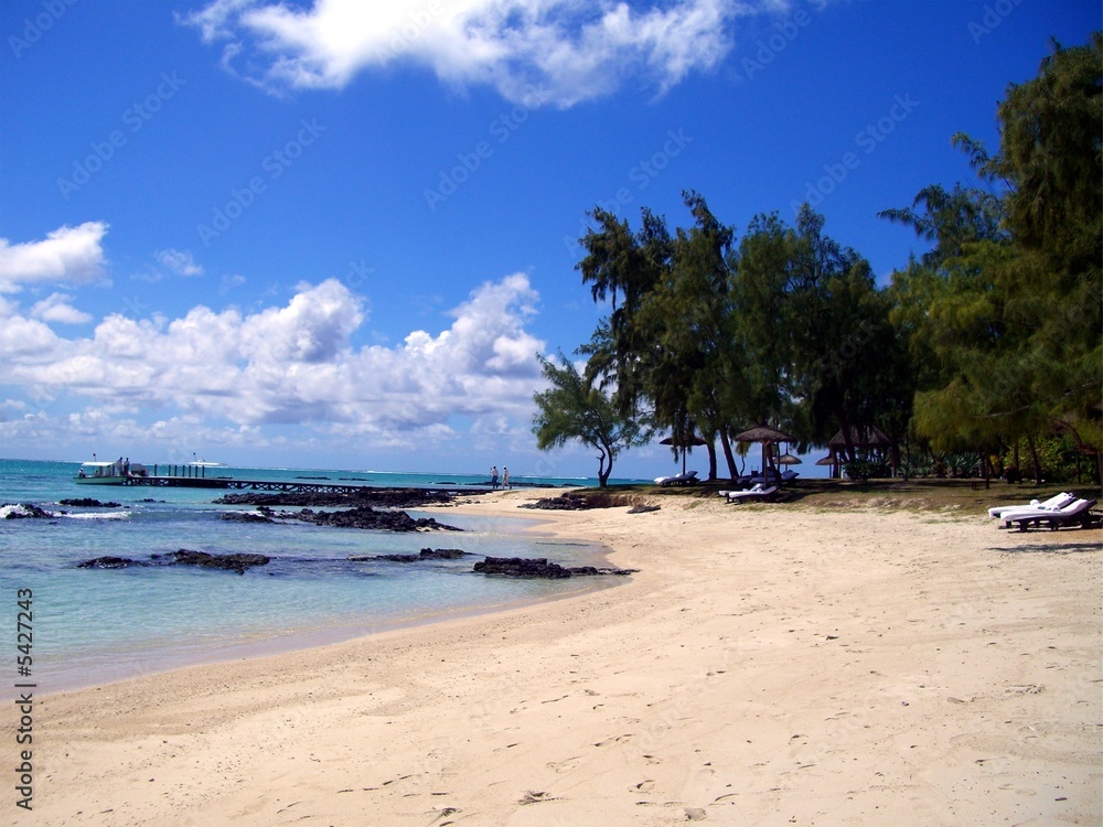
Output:
<svg viewBox="0 0 1103 827">
<path fill-rule="evenodd" d="M 876 425 L 915 454 L 907 468 L 987 476 L 1025 440 L 1038 475 L 1068 473 L 1072 447 L 1099 479 L 1101 66 L 1099 33 L 1054 45 L 999 105 L 998 152 L 954 136 L 982 186 L 932 184 L 881 213 L 932 243 L 887 288 L 807 205 L 795 226 L 757 215 L 741 238 L 692 191 L 693 223 L 673 234 L 646 208 L 635 232 L 596 208 L 577 269 L 610 312 L 580 348 L 585 378 L 544 363 L 570 401 L 537 395 L 542 448 L 579 438 L 611 461 L 590 419 L 568 416 L 592 409 L 636 429 L 623 444 L 641 422 L 672 431 L 675 449 L 703 437 L 711 477 L 717 439 L 736 474 L 732 429 L 770 422 L 804 448 Z M 852 476 L 886 471 L 845 453 Z"/>
</svg>

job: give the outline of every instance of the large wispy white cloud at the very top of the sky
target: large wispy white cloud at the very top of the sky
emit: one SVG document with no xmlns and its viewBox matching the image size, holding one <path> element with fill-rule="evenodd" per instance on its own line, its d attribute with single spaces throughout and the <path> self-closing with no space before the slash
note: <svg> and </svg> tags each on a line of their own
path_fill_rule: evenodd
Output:
<svg viewBox="0 0 1103 827">
<path fill-rule="evenodd" d="M 778 0 L 670 0 L 646 9 L 586 0 L 214 0 L 180 21 L 223 65 L 287 88 L 346 86 L 397 62 L 456 86 L 489 85 L 516 103 L 568 107 L 614 92 L 628 77 L 658 93 L 715 66 L 730 21 Z"/>
</svg>

